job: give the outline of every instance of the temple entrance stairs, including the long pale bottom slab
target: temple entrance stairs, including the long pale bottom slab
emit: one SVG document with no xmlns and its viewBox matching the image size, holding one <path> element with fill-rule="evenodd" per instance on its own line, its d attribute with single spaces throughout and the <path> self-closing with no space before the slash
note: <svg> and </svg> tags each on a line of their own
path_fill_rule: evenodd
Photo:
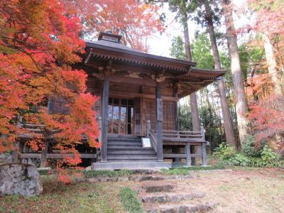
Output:
<svg viewBox="0 0 284 213">
<path fill-rule="evenodd" d="M 143 148 L 136 136 L 108 136 L 107 162 L 92 163 L 94 170 L 119 170 L 138 168 L 170 168 L 171 163 L 158 162 L 153 148 Z"/>
</svg>

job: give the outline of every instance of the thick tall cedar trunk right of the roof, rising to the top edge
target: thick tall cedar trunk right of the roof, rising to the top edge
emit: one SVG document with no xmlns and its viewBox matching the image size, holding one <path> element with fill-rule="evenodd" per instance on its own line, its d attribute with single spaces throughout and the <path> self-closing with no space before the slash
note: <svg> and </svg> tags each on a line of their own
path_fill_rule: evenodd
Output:
<svg viewBox="0 0 284 213">
<path fill-rule="evenodd" d="M 248 105 L 246 102 L 246 94 L 244 92 L 244 80 L 241 75 L 241 63 L 239 59 L 238 44 L 236 43 L 236 32 L 234 28 L 233 11 L 231 1 L 223 0 L 223 9 L 226 25 L 226 40 L 229 46 L 229 55 L 231 59 L 231 76 L 234 84 L 234 98 L 236 102 L 236 116 L 239 127 L 239 138 L 241 144 L 247 133 L 246 113 Z"/>
</svg>

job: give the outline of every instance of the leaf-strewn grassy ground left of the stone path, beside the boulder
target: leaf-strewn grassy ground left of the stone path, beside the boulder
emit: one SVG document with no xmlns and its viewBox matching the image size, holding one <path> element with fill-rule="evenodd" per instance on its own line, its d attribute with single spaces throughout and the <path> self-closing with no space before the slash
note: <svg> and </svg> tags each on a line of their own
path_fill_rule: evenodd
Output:
<svg viewBox="0 0 284 213">
<path fill-rule="evenodd" d="M 41 176 L 43 193 L 34 197 L 6 195 L 0 197 L 0 212 L 125 212 L 120 202 L 121 183 L 63 185 L 55 176 Z M 24 211 L 23 211 L 24 209 Z"/>
</svg>

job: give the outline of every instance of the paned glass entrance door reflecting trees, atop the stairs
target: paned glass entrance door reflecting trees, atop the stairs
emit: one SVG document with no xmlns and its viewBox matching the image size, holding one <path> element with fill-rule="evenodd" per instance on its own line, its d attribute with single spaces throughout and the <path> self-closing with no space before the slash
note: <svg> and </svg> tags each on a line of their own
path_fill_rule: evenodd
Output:
<svg viewBox="0 0 284 213">
<path fill-rule="evenodd" d="M 133 100 L 109 98 L 108 121 L 108 133 L 132 134 Z"/>
</svg>

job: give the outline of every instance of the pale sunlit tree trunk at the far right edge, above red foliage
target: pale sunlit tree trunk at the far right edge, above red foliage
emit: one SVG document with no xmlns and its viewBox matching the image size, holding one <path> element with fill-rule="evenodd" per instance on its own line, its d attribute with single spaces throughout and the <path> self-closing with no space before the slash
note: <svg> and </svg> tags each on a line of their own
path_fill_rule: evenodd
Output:
<svg viewBox="0 0 284 213">
<path fill-rule="evenodd" d="M 273 94 L 276 97 L 283 97 L 281 82 L 278 77 L 277 63 L 275 59 L 275 54 L 273 51 L 273 45 L 268 35 L 263 34 L 264 50 L 266 52 L 266 62 L 268 65 L 268 72 L 271 75 L 271 79 L 274 83 Z"/>
</svg>

